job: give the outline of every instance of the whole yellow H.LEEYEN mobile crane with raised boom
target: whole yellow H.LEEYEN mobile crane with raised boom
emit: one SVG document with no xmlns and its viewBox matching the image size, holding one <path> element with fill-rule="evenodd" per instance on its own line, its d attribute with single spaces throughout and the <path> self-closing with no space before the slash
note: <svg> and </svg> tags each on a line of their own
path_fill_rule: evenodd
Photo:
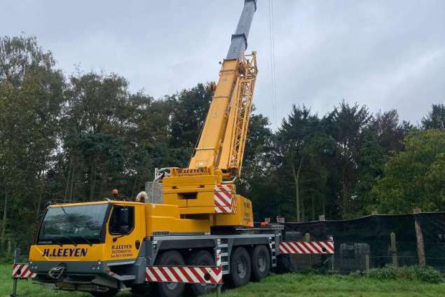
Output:
<svg viewBox="0 0 445 297">
<path fill-rule="evenodd" d="M 235 192 L 257 74 L 256 53 L 245 54 L 255 11 L 256 0 L 245 0 L 189 166 L 156 170 L 162 201 L 142 192 L 134 202 L 50 205 L 29 263 L 13 275 L 93 296 L 177 297 L 207 293 L 223 276 L 233 286 L 259 280 L 278 254 L 333 253 L 331 241 L 282 246 L 282 226 L 254 228 L 252 202 Z"/>
</svg>

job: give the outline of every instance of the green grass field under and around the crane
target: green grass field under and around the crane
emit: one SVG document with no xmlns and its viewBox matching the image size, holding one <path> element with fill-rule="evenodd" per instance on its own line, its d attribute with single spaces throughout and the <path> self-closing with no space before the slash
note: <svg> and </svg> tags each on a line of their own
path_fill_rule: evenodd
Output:
<svg viewBox="0 0 445 297">
<path fill-rule="evenodd" d="M 0 296 L 9 296 L 12 289 L 11 265 L 0 265 Z M 50 291 L 31 281 L 19 281 L 20 296 L 32 297 L 87 297 L 87 293 Z M 214 296 L 212 293 L 210 296 Z M 118 297 L 130 297 L 121 293 Z M 259 283 L 224 291 L 223 297 L 411 297 L 444 296 L 445 283 L 426 284 L 413 281 L 378 281 L 366 277 L 285 274 L 272 275 Z M 154 296 L 153 296 L 154 297 Z"/>
</svg>

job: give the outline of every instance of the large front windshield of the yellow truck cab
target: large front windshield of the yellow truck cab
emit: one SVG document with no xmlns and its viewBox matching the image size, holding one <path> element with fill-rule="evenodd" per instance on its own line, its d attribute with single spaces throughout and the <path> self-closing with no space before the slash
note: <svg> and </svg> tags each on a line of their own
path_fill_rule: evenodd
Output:
<svg viewBox="0 0 445 297">
<path fill-rule="evenodd" d="M 94 244 L 102 242 L 107 204 L 50 207 L 37 244 Z"/>
</svg>

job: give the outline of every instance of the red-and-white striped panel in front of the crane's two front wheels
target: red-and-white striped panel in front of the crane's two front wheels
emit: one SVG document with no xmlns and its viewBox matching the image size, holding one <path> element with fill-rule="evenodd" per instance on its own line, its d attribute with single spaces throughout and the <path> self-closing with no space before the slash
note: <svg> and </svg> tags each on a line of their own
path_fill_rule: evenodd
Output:
<svg viewBox="0 0 445 297">
<path fill-rule="evenodd" d="M 149 266 L 145 271 L 147 282 L 186 282 L 189 284 L 219 284 L 221 267 Z"/>
</svg>

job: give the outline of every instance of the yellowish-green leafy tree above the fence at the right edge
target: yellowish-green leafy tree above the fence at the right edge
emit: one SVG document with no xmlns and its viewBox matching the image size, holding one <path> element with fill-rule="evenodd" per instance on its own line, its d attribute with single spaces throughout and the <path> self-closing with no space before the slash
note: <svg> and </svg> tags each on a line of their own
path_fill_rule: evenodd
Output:
<svg viewBox="0 0 445 297">
<path fill-rule="evenodd" d="M 383 178 L 372 189 L 381 212 L 406 213 L 445 209 L 445 132 L 416 131 L 404 140 L 405 151 L 385 165 Z"/>
</svg>

